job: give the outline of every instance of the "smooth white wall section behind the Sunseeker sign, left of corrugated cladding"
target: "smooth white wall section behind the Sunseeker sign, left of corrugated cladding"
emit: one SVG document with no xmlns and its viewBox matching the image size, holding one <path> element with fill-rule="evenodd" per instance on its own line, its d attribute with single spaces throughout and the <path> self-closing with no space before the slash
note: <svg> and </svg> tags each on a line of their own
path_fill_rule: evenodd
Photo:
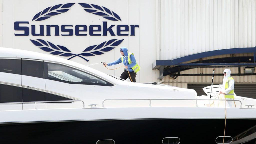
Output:
<svg viewBox="0 0 256 144">
<path fill-rule="evenodd" d="M 35 21 L 33 17 L 40 11 L 50 6 L 58 4 L 75 3 L 69 11 L 52 16 L 51 18 Z M 121 21 L 111 21 L 102 16 L 87 13 L 78 3 L 95 4 L 104 6 L 118 14 Z M 14 22 L 27 21 L 29 24 L 21 24 L 30 28 L 29 36 L 15 36 L 14 34 L 22 34 L 23 31 L 14 30 Z M 115 25 L 113 31 L 116 34 L 117 25 L 139 25 L 135 28 L 135 36 L 76 36 L 75 32 L 72 36 L 54 36 L 54 29 L 51 30 L 51 36 L 32 36 L 31 25 L 36 26 L 36 33 L 39 33 L 39 25 L 101 25 L 107 22 L 107 26 Z M 69 27 L 71 28 L 71 27 Z M 136 82 L 146 83 L 155 81 L 159 75 L 158 70 L 152 70 L 151 64 L 158 57 L 158 1 L 155 0 L 0 0 L 0 47 L 8 47 L 15 49 L 24 49 L 34 52 L 49 54 L 31 43 L 30 39 L 43 39 L 55 45 L 67 47 L 72 53 L 80 54 L 85 48 L 92 45 L 99 45 L 110 39 L 124 39 L 123 42 L 116 46 L 113 50 L 102 55 L 86 57 L 89 61 L 76 56 L 72 61 L 103 71 L 106 74 L 120 76 L 123 68 L 116 70 L 107 70 L 102 64 L 92 65 L 105 61 L 110 63 L 120 58 L 120 47 L 127 47 L 129 52 L 135 54 L 137 63 L 141 66 L 141 70 L 136 77 Z M 44 29 L 46 34 L 46 29 Z M 95 32 L 99 34 L 98 32 Z M 126 33 L 126 32 L 124 32 Z M 123 33 L 123 34 L 124 34 Z M 61 34 L 61 33 L 60 33 Z M 66 32 L 64 34 L 67 34 Z M 83 33 L 84 34 L 84 33 Z M 63 56 L 59 56 L 63 57 Z M 63 57 L 70 58 L 70 57 Z M 118 64 L 110 68 L 122 66 Z"/>
</svg>

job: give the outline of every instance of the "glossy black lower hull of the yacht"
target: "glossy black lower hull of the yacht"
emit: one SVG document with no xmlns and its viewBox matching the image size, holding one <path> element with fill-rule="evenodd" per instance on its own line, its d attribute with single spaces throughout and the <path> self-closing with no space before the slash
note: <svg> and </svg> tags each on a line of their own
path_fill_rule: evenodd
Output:
<svg viewBox="0 0 256 144">
<path fill-rule="evenodd" d="M 178 137 L 180 144 L 215 144 L 215 139 L 223 135 L 223 130 L 224 119 L 120 119 L 13 123 L 0 124 L 0 143 L 95 144 L 98 140 L 113 139 L 116 144 L 162 144 L 165 137 Z M 255 130 L 255 119 L 227 119 L 225 136 L 238 138 L 234 141 L 242 140 L 246 136 L 254 135 Z M 244 132 L 246 135 L 243 135 Z M 251 143 L 255 142 L 255 138 L 253 139 Z"/>
</svg>

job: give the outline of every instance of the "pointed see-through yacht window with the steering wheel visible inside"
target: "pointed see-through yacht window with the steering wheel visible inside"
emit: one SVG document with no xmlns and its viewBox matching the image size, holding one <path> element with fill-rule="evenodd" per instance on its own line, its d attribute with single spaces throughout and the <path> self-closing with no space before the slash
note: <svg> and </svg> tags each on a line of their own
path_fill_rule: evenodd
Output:
<svg viewBox="0 0 256 144">
<path fill-rule="evenodd" d="M 44 73 L 46 79 L 64 83 L 112 86 L 98 77 L 61 64 L 44 63 Z"/>
</svg>

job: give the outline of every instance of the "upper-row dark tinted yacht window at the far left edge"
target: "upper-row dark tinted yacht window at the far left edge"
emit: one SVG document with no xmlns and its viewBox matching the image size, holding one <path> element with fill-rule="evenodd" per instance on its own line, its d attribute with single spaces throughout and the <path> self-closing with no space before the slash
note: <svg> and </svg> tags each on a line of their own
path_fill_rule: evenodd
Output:
<svg viewBox="0 0 256 144">
<path fill-rule="evenodd" d="M 21 60 L 0 59 L 0 72 L 21 75 Z"/>
</svg>

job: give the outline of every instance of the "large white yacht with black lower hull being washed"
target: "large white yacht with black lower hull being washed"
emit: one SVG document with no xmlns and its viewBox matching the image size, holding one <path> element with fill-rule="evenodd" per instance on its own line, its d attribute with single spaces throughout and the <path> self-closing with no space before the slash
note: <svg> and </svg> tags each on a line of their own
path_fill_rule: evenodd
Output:
<svg viewBox="0 0 256 144">
<path fill-rule="evenodd" d="M 0 48 L 0 143 L 256 142 L 255 99 L 225 106 L 221 85 L 193 89 L 124 81 L 47 54 Z M 210 91 L 209 91 L 210 90 Z"/>
</svg>

